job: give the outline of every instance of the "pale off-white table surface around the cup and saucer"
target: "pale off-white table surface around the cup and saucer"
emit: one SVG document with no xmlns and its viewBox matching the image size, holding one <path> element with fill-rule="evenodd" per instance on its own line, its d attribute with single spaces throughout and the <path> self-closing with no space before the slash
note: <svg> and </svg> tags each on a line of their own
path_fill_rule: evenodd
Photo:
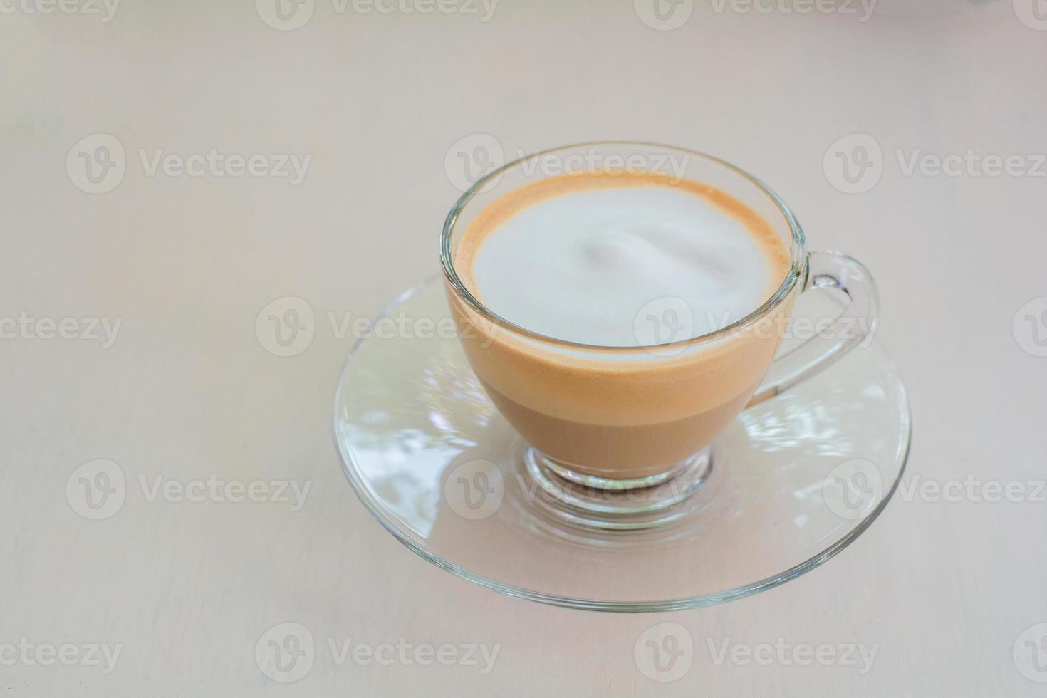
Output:
<svg viewBox="0 0 1047 698">
<path fill-rule="evenodd" d="M 906 482 L 1034 489 L 1047 358 L 1034 355 L 1037 328 L 1020 321 L 1016 335 L 1012 320 L 1047 295 L 1047 167 L 904 167 L 915 149 L 972 149 L 1035 168 L 1047 152 L 1047 30 L 1026 4 L 882 0 L 860 22 L 786 13 L 784 0 L 766 14 L 698 2 L 661 30 L 629 0 L 503 0 L 486 22 L 482 5 L 364 14 L 315 0 L 304 26 L 283 30 L 250 0 L 124 0 L 110 21 L 101 4 L 103 16 L 0 2 L 0 316 L 75 318 L 77 337 L 47 339 L 46 322 L 0 327 L 3 695 L 1043 695 L 1012 659 L 1020 635 L 1047 622 L 1043 493 L 896 498 L 824 566 L 715 608 L 616 615 L 504 598 L 417 558 L 356 500 L 330 426 L 352 339 L 327 322 L 372 316 L 437 270 L 458 195 L 445 163 L 461 138 L 489 134 L 506 154 L 601 138 L 703 150 L 767 181 L 812 249 L 874 271 L 878 339 L 913 407 Z M 68 170 L 66 159 L 96 133 L 118 139 L 126 173 L 88 194 L 75 152 Z M 823 156 L 855 133 L 882 148 L 883 172 L 845 194 Z M 139 151 L 157 149 L 312 159 L 297 185 L 150 176 Z M 283 296 L 316 315 L 294 357 L 255 335 L 255 316 Z M 120 321 L 111 346 L 85 333 L 88 318 Z M 126 479 L 122 505 L 99 520 L 66 491 L 94 459 Z M 157 476 L 310 490 L 293 512 L 151 501 L 140 478 Z M 291 683 L 255 661 L 255 644 L 284 622 L 316 643 Z M 683 678 L 655 683 L 633 646 L 665 622 L 687 629 L 694 655 Z M 339 665 L 328 640 L 349 638 L 499 649 L 487 673 Z M 860 675 L 845 663 L 717 665 L 708 648 L 779 638 L 878 650 Z M 40 648 L 65 644 L 71 666 L 45 665 Z M 90 645 L 119 646 L 115 665 L 92 663 Z"/>
</svg>

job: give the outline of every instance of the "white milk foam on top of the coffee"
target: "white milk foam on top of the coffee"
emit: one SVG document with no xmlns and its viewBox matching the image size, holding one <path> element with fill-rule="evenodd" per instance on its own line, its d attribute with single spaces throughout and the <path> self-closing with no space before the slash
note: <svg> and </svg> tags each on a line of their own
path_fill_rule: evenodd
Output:
<svg viewBox="0 0 1047 698">
<path fill-rule="evenodd" d="M 773 270 L 738 219 L 669 186 L 586 189 L 534 203 L 472 262 L 483 302 L 542 335 L 636 346 L 707 334 L 767 298 Z"/>
</svg>

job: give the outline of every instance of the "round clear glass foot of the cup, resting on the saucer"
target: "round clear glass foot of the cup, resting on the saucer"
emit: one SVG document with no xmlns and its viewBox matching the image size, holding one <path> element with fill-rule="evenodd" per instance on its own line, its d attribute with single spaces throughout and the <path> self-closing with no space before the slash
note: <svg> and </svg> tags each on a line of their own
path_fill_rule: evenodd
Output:
<svg viewBox="0 0 1047 698">
<path fill-rule="evenodd" d="M 569 523 L 604 531 L 669 524 L 689 513 L 685 503 L 713 471 L 706 448 L 664 473 L 616 479 L 578 473 L 529 446 L 525 470 L 540 496 L 535 505 Z"/>
</svg>

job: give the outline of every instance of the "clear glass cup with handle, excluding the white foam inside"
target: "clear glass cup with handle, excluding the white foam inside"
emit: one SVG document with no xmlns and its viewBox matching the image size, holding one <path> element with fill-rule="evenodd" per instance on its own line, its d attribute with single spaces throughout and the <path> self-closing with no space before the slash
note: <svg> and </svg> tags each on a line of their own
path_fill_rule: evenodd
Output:
<svg viewBox="0 0 1047 698">
<path fill-rule="evenodd" d="M 563 341 L 498 316 L 455 269 L 463 232 L 508 192 L 585 172 L 654 173 L 716 187 L 770 225 L 788 250 L 788 271 L 762 306 L 697 336 L 688 331 L 694 323 L 686 303 L 652 298 L 636 309 L 634 346 Z M 796 217 L 765 184 L 718 158 L 653 143 L 569 145 L 491 172 L 447 216 L 441 262 L 465 354 L 494 405 L 530 445 L 526 458 L 586 488 L 647 488 L 682 472 L 698 473 L 693 479 L 700 482 L 709 445 L 742 409 L 823 370 L 876 322 L 869 271 L 845 254 L 808 253 Z M 842 315 L 776 357 L 794 301 L 810 289 L 842 292 Z"/>
</svg>

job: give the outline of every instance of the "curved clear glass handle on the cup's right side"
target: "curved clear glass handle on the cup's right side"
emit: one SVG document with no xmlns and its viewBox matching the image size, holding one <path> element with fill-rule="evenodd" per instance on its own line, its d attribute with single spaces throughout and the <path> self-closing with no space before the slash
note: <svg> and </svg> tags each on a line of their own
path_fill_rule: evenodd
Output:
<svg viewBox="0 0 1047 698">
<path fill-rule="evenodd" d="M 774 398 L 828 368 L 875 331 L 879 308 L 876 284 L 865 265 L 854 257 L 830 251 L 809 253 L 803 290 L 811 289 L 843 291 L 848 298 L 844 312 L 828 328 L 776 357 L 747 407 Z"/>
</svg>

